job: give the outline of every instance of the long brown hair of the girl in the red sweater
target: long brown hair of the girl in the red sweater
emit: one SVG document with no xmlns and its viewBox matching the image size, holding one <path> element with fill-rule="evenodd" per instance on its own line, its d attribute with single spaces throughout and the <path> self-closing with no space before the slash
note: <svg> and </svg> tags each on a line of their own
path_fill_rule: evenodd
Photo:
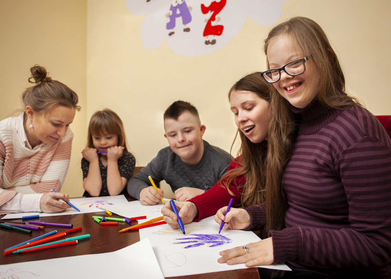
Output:
<svg viewBox="0 0 391 279">
<path fill-rule="evenodd" d="M 260 72 L 251 73 L 242 77 L 231 87 L 228 93 L 228 100 L 230 100 L 233 91 L 249 91 L 269 102 L 270 88 L 270 84 L 262 78 Z M 241 145 L 237 156 L 241 155 L 241 160 L 238 162 L 241 167 L 227 172 L 220 180 L 220 185 L 226 187 L 228 192 L 233 195 L 229 190 L 231 182 L 235 177 L 244 174 L 246 183 L 242 188 L 240 204 L 244 206 L 261 204 L 265 201 L 267 143 L 266 141 L 252 143 L 238 128 L 231 150 L 238 134 Z"/>
</svg>

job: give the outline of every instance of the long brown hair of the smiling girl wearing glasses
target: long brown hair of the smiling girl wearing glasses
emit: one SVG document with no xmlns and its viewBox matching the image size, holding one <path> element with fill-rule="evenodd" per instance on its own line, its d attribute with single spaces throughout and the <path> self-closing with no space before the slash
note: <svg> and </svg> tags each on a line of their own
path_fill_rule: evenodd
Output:
<svg viewBox="0 0 391 279">
<path fill-rule="evenodd" d="M 327 106 L 343 109 L 359 102 L 346 94 L 345 77 L 337 55 L 323 29 L 313 20 L 294 17 L 271 29 L 265 39 L 264 51 L 267 56 L 269 43 L 281 35 L 288 35 L 305 55 L 312 55 L 311 61 L 319 74 L 317 100 Z M 269 61 L 267 60 L 269 69 Z M 284 227 L 287 207 L 282 188 L 283 170 L 294 145 L 297 124 L 291 104 L 273 87 L 270 103 L 266 177 L 266 228 L 280 230 Z"/>
</svg>

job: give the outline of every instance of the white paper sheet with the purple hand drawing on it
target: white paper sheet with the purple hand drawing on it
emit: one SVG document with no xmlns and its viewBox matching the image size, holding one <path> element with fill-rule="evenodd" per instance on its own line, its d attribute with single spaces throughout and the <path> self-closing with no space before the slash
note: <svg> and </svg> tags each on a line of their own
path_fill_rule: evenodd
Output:
<svg viewBox="0 0 391 279">
<path fill-rule="evenodd" d="M 247 268 L 244 264 L 218 263 L 219 252 L 260 240 L 251 231 L 223 229 L 219 235 L 213 216 L 186 224 L 185 232 L 167 224 L 140 229 L 140 240 L 149 238 L 165 277 Z M 285 264 L 260 267 L 291 270 Z"/>
</svg>

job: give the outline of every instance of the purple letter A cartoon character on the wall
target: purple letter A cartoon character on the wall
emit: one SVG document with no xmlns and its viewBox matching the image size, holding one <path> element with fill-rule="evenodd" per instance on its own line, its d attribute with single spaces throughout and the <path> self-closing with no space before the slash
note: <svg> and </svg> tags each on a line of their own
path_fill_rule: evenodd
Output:
<svg viewBox="0 0 391 279">
<path fill-rule="evenodd" d="M 186 25 L 192 21 L 192 16 L 190 14 L 191 10 L 192 7 L 187 6 L 185 0 L 171 0 L 170 11 L 166 14 L 166 17 L 169 20 L 167 22 L 166 28 L 167 30 L 171 30 L 169 36 L 172 36 L 175 33 L 175 20 L 179 17 L 182 17 L 182 24 L 184 26 L 183 32 L 190 31 L 190 28 L 186 27 Z M 178 11 L 179 13 L 177 13 Z"/>
</svg>

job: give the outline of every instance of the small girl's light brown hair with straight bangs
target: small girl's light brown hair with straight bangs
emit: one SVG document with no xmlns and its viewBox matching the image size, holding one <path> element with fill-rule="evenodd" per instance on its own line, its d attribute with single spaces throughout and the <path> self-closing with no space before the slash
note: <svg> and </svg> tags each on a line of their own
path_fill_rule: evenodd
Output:
<svg viewBox="0 0 391 279">
<path fill-rule="evenodd" d="M 126 134 L 124 124 L 117 113 L 111 109 L 95 111 L 88 124 L 88 136 L 86 147 L 93 148 L 92 135 L 114 134 L 118 136 L 118 146 L 124 147 L 124 152 L 129 152 L 126 147 Z"/>
</svg>

